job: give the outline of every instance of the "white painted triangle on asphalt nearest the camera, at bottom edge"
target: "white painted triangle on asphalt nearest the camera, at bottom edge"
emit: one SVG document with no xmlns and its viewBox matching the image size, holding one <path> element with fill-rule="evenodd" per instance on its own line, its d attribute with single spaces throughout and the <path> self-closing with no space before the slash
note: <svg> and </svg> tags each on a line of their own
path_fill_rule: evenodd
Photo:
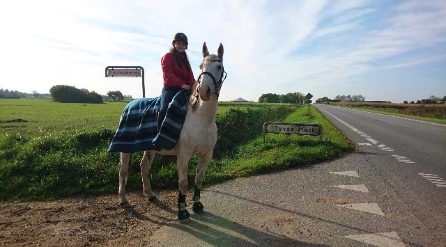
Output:
<svg viewBox="0 0 446 247">
<path fill-rule="evenodd" d="M 380 232 L 375 234 L 359 234 L 359 235 L 350 235 L 344 236 L 348 239 L 353 239 L 355 241 L 360 241 L 366 244 L 371 244 L 374 246 L 394 246 L 394 247 L 403 247 L 403 241 L 399 238 L 397 232 Z"/>
</svg>

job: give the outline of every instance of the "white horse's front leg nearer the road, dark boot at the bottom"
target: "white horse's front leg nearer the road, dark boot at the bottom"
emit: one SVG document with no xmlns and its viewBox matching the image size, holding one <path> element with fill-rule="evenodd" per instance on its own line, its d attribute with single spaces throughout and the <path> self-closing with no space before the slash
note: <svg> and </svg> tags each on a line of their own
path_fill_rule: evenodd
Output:
<svg viewBox="0 0 446 247">
<path fill-rule="evenodd" d="M 197 174 L 195 175 L 195 189 L 194 196 L 192 200 L 194 200 L 194 204 L 192 205 L 192 210 L 195 214 L 203 214 L 203 204 L 200 202 L 200 192 L 201 192 L 201 184 L 203 183 L 204 173 L 206 172 L 206 168 L 208 168 L 208 164 L 210 159 L 212 159 L 213 150 L 209 150 L 204 154 L 199 154 L 198 165 L 197 165 Z"/>
</svg>

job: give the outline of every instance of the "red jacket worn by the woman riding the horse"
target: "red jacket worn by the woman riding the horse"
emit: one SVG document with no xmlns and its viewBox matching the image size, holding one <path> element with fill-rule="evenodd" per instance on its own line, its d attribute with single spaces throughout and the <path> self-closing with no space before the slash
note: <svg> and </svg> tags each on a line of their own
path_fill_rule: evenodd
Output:
<svg viewBox="0 0 446 247">
<path fill-rule="evenodd" d="M 164 86 L 180 88 L 184 84 L 194 85 L 195 79 L 192 70 L 185 66 L 178 67 L 173 52 L 167 52 L 161 58 L 161 67 Z"/>
</svg>

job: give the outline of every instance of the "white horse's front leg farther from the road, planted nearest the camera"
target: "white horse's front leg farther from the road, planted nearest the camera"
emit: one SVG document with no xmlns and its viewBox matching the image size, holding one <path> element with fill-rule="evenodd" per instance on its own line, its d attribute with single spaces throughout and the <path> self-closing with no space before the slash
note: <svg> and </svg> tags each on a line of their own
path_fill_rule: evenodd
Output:
<svg viewBox="0 0 446 247">
<path fill-rule="evenodd" d="M 178 154 L 176 163 L 178 165 L 178 186 L 180 193 L 178 194 L 178 221 L 180 223 L 188 223 L 189 212 L 186 209 L 186 189 L 187 189 L 187 166 L 189 164 L 190 154 Z"/>
</svg>

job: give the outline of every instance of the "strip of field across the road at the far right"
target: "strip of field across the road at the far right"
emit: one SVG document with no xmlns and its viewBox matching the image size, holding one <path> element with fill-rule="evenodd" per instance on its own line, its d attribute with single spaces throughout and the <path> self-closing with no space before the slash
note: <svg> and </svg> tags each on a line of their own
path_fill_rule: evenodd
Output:
<svg viewBox="0 0 446 247">
<path fill-rule="evenodd" d="M 446 124 L 446 104 L 394 104 L 394 103 L 351 103 L 330 102 L 335 106 L 343 106 L 375 113 L 396 115 L 427 122 Z"/>
</svg>

